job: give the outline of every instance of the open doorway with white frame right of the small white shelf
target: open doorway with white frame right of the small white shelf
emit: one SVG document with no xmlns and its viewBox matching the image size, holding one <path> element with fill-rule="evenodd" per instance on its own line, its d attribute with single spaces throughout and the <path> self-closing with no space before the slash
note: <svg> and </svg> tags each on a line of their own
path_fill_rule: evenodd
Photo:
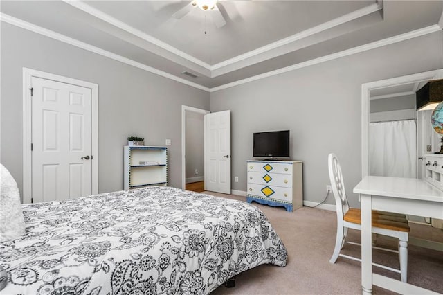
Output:
<svg viewBox="0 0 443 295">
<path fill-rule="evenodd" d="M 204 190 L 204 116 L 210 111 L 181 107 L 181 188 Z"/>
</svg>

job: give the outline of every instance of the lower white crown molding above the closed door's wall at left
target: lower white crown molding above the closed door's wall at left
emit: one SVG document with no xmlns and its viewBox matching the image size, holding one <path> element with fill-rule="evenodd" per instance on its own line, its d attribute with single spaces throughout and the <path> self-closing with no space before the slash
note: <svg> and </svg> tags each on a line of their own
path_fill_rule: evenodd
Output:
<svg viewBox="0 0 443 295">
<path fill-rule="evenodd" d="M 3 12 L 0 12 L 0 21 L 4 21 L 8 24 L 11 24 L 13 26 L 17 26 L 19 28 L 24 28 L 25 30 L 30 30 L 31 32 L 37 33 L 39 35 L 44 35 L 46 37 L 50 37 L 52 39 L 56 39 L 57 41 L 64 42 L 66 44 L 70 44 L 72 46 L 82 48 L 87 51 L 91 51 L 93 53 L 96 53 L 98 55 L 102 55 L 105 57 L 109 57 L 112 60 L 116 60 L 118 62 L 123 62 L 124 64 L 129 64 L 130 66 L 135 66 L 138 69 L 142 69 L 144 71 L 148 71 L 150 73 L 154 73 L 156 75 L 160 75 L 164 78 L 168 78 L 170 80 L 174 80 L 176 82 L 180 82 L 182 84 L 186 84 L 190 87 L 195 87 L 197 89 L 201 89 L 204 91 L 210 91 L 208 87 L 204 87 L 200 84 L 190 82 L 188 80 L 185 80 L 183 78 L 179 78 L 175 75 L 172 75 L 170 73 L 166 73 L 164 71 L 160 71 L 159 69 L 154 69 L 152 66 L 147 66 L 145 64 L 142 64 L 140 62 L 136 62 L 134 60 L 130 60 L 127 57 L 123 57 L 121 55 L 117 55 L 115 53 L 111 53 L 109 51 L 105 51 L 102 48 L 98 48 L 96 46 L 92 46 L 90 44 L 81 42 L 77 39 L 73 39 L 71 37 L 67 37 L 65 35 L 62 35 L 60 33 L 56 33 L 53 30 L 48 30 L 46 28 L 42 28 L 40 26 L 36 26 L 35 24 L 28 23 L 27 21 L 23 21 L 21 19 L 17 19 L 15 17 L 11 17 L 10 15 L 6 15 Z"/>
</svg>

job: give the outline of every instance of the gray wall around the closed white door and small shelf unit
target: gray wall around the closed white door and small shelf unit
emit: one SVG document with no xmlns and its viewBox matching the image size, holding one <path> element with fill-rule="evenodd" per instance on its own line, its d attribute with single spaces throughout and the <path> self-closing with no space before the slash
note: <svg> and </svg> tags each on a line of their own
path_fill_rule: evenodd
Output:
<svg viewBox="0 0 443 295">
<path fill-rule="evenodd" d="M 123 189 L 123 145 L 170 138 L 169 183 L 181 187 L 181 105 L 209 109 L 206 91 L 1 23 L 1 163 L 22 192 L 22 68 L 99 85 L 99 192 Z"/>
</svg>

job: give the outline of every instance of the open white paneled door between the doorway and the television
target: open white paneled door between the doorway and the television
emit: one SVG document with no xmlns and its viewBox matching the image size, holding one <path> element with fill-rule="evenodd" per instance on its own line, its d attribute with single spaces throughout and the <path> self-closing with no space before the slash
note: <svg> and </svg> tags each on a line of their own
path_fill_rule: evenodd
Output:
<svg viewBox="0 0 443 295">
<path fill-rule="evenodd" d="M 230 194 L 230 111 L 206 114 L 205 190 Z"/>
</svg>

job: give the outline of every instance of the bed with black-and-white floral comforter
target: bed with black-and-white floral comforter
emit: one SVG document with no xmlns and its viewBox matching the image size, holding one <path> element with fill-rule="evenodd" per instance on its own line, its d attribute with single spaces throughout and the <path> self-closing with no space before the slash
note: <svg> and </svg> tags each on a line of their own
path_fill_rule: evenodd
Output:
<svg viewBox="0 0 443 295">
<path fill-rule="evenodd" d="M 1 294 L 208 294 L 287 250 L 245 202 L 167 186 L 22 206 Z"/>
</svg>

